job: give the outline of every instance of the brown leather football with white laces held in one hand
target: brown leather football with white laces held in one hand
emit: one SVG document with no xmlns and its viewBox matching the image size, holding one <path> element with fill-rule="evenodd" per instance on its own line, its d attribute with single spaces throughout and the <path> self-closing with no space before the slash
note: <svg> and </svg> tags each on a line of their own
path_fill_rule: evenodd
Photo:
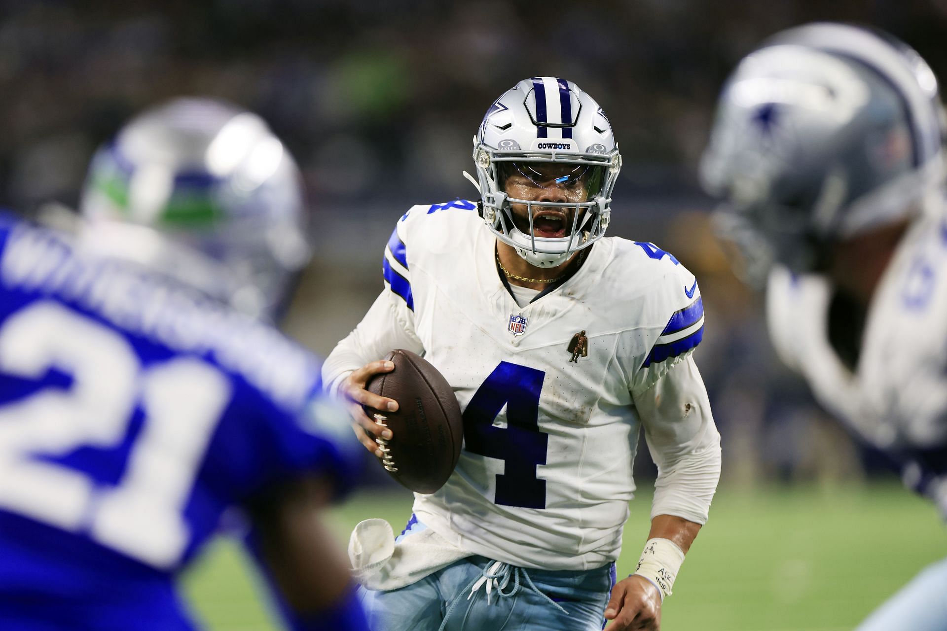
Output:
<svg viewBox="0 0 947 631">
<path fill-rule="evenodd" d="M 391 429 L 392 438 L 377 440 L 385 470 L 403 486 L 434 493 L 454 472 L 464 439 L 460 405 L 451 384 L 426 359 L 395 349 L 384 356 L 395 369 L 368 379 L 366 390 L 398 401 L 398 412 L 368 416 Z M 377 416 L 376 416 L 377 414 Z"/>
</svg>

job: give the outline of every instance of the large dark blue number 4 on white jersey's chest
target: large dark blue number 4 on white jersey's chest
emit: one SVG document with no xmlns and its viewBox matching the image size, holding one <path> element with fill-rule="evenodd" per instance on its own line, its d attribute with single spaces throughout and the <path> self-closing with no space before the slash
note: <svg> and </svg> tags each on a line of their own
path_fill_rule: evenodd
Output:
<svg viewBox="0 0 947 631">
<path fill-rule="evenodd" d="M 464 411 L 464 440 L 475 454 L 506 463 L 496 476 L 497 504 L 545 508 L 545 480 L 536 466 L 545 464 L 549 435 L 539 430 L 539 394 L 545 373 L 501 361 L 477 389 Z M 507 406 L 507 427 L 493 419 Z"/>
</svg>

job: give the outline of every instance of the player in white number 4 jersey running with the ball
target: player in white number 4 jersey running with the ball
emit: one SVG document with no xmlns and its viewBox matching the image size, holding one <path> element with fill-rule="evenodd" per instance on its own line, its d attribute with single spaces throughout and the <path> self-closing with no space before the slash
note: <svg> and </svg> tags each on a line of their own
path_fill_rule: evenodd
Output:
<svg viewBox="0 0 947 631">
<path fill-rule="evenodd" d="M 604 237 L 621 160 L 575 83 L 525 79 L 496 99 L 474 163 L 478 202 L 397 220 L 384 290 L 323 367 L 379 457 L 375 439 L 391 432 L 362 406 L 397 409 L 365 390 L 391 369 L 389 350 L 422 353 L 464 411 L 456 471 L 415 495 L 397 544 L 379 520 L 352 535 L 370 623 L 591 630 L 604 617 L 657 629 L 720 475 L 691 356 L 704 332 L 697 281 L 650 242 Z M 641 427 L 659 470 L 652 528 L 616 584 Z"/>
</svg>

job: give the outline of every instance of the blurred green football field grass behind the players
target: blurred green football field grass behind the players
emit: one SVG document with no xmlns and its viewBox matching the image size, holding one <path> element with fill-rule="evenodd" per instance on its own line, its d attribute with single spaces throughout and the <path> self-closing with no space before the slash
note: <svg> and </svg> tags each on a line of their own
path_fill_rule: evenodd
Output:
<svg viewBox="0 0 947 631">
<path fill-rule="evenodd" d="M 357 495 L 331 513 L 340 545 L 366 517 L 401 531 L 411 497 Z M 650 498 L 632 502 L 618 575 L 634 569 Z M 665 631 L 841 631 L 927 563 L 947 556 L 933 505 L 897 484 L 722 490 L 665 603 Z M 193 608 L 217 631 L 276 629 L 241 552 L 218 543 L 188 576 Z"/>
</svg>

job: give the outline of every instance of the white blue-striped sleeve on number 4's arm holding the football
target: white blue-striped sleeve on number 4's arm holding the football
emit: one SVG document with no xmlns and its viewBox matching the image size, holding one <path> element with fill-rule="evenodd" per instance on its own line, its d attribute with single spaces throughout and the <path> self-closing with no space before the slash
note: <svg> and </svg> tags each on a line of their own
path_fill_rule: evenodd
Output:
<svg viewBox="0 0 947 631">
<path fill-rule="evenodd" d="M 408 215 L 405 215 L 407 218 Z M 414 292 L 411 287 L 410 224 L 402 218 L 384 248 L 384 289 L 365 317 L 344 340 L 335 345 L 323 364 L 327 391 L 338 393 L 349 373 L 369 361 L 384 358 L 395 348 L 421 354 L 424 346 L 415 332 Z"/>
</svg>

